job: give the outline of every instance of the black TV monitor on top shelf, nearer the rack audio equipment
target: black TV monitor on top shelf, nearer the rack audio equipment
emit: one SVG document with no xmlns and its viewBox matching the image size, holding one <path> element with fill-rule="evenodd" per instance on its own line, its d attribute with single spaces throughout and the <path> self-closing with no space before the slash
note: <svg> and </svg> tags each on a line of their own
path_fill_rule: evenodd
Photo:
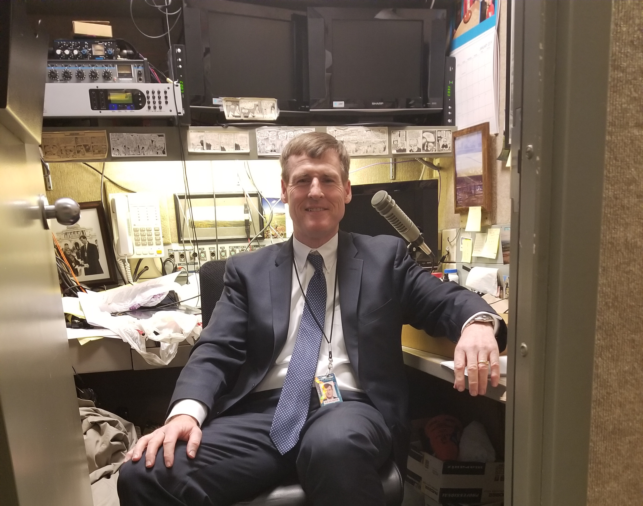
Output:
<svg viewBox="0 0 643 506">
<path fill-rule="evenodd" d="M 190 105 L 223 96 L 276 98 L 307 110 L 305 12 L 225 0 L 187 0 L 183 9 Z"/>
</svg>

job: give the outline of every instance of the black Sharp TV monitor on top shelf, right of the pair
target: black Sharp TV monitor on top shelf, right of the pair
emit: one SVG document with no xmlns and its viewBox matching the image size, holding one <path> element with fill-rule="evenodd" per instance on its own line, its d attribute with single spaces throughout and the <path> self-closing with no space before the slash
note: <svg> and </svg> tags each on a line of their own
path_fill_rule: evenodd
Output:
<svg viewBox="0 0 643 506">
<path fill-rule="evenodd" d="M 444 10 L 309 7 L 311 110 L 441 111 L 446 37 Z"/>
</svg>

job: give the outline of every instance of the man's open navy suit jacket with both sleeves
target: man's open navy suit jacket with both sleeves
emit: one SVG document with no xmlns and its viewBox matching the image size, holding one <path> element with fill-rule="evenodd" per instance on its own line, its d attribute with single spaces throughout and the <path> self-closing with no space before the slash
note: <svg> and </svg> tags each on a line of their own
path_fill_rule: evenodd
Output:
<svg viewBox="0 0 643 506">
<path fill-rule="evenodd" d="M 382 413 L 394 458 L 406 468 L 408 388 L 401 348 L 403 324 L 456 342 L 476 312 L 494 312 L 455 283 L 440 282 L 415 263 L 403 240 L 340 231 L 341 324 L 361 388 Z M 224 291 L 192 348 L 170 407 L 196 399 L 217 417 L 264 378 L 284 347 L 290 320 L 292 240 L 228 259 Z M 507 343 L 501 322 L 500 350 Z"/>
</svg>

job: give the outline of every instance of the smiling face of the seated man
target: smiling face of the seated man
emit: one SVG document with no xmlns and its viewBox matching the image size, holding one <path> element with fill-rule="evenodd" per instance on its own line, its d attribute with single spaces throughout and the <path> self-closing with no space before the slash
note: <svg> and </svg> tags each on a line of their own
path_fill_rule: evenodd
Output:
<svg viewBox="0 0 643 506">
<path fill-rule="evenodd" d="M 288 164 L 289 181 L 282 180 L 282 201 L 289 205 L 295 237 L 305 244 L 320 240 L 324 244 L 338 231 L 351 198 L 350 181 L 341 180 L 340 158 L 327 151 L 319 159 L 293 156 Z"/>
</svg>

